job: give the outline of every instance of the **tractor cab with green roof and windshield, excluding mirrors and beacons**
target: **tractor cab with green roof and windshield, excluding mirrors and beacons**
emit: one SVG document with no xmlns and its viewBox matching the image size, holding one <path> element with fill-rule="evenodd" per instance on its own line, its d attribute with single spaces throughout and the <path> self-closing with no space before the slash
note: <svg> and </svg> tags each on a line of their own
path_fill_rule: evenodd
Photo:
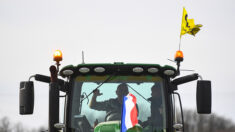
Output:
<svg viewBox="0 0 235 132">
<path fill-rule="evenodd" d="M 71 131 L 120 131 L 122 99 L 127 93 L 137 100 L 138 125 L 135 129 L 143 132 L 166 130 L 171 116 L 167 82 L 176 75 L 173 67 L 80 64 L 63 68 L 60 75 L 70 80 L 66 119 Z"/>
</svg>

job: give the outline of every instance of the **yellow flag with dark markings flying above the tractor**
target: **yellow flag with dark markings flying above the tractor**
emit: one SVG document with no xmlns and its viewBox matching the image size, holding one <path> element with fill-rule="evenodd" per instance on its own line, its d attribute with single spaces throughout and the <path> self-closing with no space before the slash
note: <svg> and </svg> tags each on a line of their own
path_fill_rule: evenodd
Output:
<svg viewBox="0 0 235 132">
<path fill-rule="evenodd" d="M 200 30 L 200 27 L 202 27 L 201 24 L 194 24 L 194 19 L 188 19 L 188 13 L 186 9 L 183 8 L 180 37 L 186 33 L 195 36 L 195 34 Z"/>
</svg>

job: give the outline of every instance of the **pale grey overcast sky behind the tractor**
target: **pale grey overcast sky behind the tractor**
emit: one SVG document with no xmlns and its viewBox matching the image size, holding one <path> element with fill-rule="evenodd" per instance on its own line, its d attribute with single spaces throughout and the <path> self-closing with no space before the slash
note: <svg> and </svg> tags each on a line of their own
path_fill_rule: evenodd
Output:
<svg viewBox="0 0 235 132">
<path fill-rule="evenodd" d="M 35 82 L 35 111 L 19 115 L 19 82 L 49 75 L 52 54 L 62 66 L 86 63 L 172 65 L 183 6 L 202 24 L 182 37 L 183 69 L 212 81 L 212 111 L 235 121 L 234 0 L 0 0 L 0 118 L 47 126 L 48 84 Z M 183 72 L 182 75 L 192 72 Z M 179 88 L 183 107 L 196 109 L 196 82 Z"/>
</svg>

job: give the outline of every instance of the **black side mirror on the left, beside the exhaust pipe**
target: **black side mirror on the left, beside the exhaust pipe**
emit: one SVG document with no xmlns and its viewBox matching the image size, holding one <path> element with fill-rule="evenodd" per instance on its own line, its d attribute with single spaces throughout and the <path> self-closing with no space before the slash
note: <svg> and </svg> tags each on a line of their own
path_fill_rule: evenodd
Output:
<svg viewBox="0 0 235 132">
<path fill-rule="evenodd" d="M 32 81 L 20 82 L 20 114 L 33 114 L 34 85 Z"/>
</svg>

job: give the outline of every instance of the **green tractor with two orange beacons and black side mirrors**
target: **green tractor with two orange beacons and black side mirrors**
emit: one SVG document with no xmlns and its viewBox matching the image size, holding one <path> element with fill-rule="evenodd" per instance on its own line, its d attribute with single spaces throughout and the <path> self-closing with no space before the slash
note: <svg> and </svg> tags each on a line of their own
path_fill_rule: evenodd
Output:
<svg viewBox="0 0 235 132">
<path fill-rule="evenodd" d="M 177 53 L 179 54 L 179 53 Z M 36 74 L 30 77 L 49 83 L 49 132 L 120 132 L 122 102 L 120 85 L 137 100 L 138 123 L 127 132 L 184 131 L 182 105 L 181 122 L 177 122 L 174 104 L 178 85 L 200 78 L 199 74 L 180 77 L 182 55 L 176 55 L 177 68 L 159 64 L 79 64 L 59 70 L 61 52 L 54 54 L 56 66 L 50 67 L 50 76 Z M 63 79 L 59 79 L 61 76 Z M 21 115 L 32 114 L 34 108 L 33 81 L 20 82 Z M 64 96 L 60 95 L 64 92 Z M 211 82 L 197 81 L 197 111 L 211 113 Z M 64 121 L 59 122 L 59 100 L 65 98 Z M 95 104 L 95 105 L 94 105 Z"/>
</svg>

